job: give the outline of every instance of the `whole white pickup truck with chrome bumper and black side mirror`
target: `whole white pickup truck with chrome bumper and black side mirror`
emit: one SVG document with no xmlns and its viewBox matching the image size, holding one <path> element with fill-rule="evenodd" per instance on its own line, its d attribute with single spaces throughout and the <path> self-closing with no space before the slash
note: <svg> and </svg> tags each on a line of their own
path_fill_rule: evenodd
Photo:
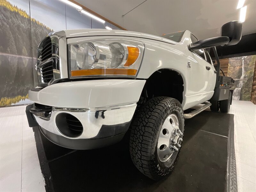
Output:
<svg viewBox="0 0 256 192">
<path fill-rule="evenodd" d="M 108 146 L 127 132 L 133 163 L 158 180 L 177 161 L 185 118 L 209 106 L 228 112 L 233 80 L 219 75 L 215 46 L 237 44 L 241 32 L 238 21 L 223 25 L 222 36 L 201 41 L 188 30 L 164 36 L 104 29 L 52 32 L 37 49 L 39 83 L 29 90 L 35 102 L 26 109 L 29 126 L 39 125 L 50 141 L 72 149 Z"/>
</svg>

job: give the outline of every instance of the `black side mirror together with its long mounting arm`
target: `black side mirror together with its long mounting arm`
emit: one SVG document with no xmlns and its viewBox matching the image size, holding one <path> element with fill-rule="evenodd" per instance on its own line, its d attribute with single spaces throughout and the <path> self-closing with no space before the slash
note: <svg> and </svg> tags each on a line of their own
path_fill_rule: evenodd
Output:
<svg viewBox="0 0 256 192">
<path fill-rule="evenodd" d="M 216 46 L 228 46 L 238 44 L 242 36 L 242 23 L 240 21 L 231 21 L 221 27 L 221 36 L 204 39 L 191 43 L 190 50 L 198 50 Z"/>
</svg>

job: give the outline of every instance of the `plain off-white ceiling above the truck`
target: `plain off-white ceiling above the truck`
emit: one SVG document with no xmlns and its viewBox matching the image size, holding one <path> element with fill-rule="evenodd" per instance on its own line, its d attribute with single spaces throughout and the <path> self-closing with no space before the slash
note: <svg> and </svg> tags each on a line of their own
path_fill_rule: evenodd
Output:
<svg viewBox="0 0 256 192">
<path fill-rule="evenodd" d="M 220 36 L 223 24 L 239 19 L 238 0 L 76 1 L 127 30 L 159 36 L 186 29 L 198 39 Z M 244 5 L 247 12 L 243 35 L 256 33 L 256 1 L 245 0 Z"/>
</svg>

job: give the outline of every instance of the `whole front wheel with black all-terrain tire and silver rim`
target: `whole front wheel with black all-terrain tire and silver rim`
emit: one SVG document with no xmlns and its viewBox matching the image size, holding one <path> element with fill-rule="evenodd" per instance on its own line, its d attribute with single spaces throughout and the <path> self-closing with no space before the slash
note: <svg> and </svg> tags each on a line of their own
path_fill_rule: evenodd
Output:
<svg viewBox="0 0 256 192">
<path fill-rule="evenodd" d="M 170 173 L 184 132 L 180 102 L 170 97 L 148 100 L 136 111 L 130 129 L 130 155 L 139 171 L 153 180 Z"/>
</svg>

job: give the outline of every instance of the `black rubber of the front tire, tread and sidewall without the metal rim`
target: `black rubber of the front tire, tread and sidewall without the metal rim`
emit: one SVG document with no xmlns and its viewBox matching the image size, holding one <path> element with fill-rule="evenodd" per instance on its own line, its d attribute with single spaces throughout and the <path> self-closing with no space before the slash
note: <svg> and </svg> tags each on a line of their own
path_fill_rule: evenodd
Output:
<svg viewBox="0 0 256 192">
<path fill-rule="evenodd" d="M 156 168 L 155 148 L 160 125 L 170 108 L 179 109 L 184 126 L 184 113 L 180 102 L 170 97 L 155 97 L 138 108 L 130 126 L 130 155 L 133 164 L 147 177 L 159 180 L 170 173 L 179 157 L 180 150 L 172 166 L 163 172 Z M 165 112 L 165 113 L 164 113 Z M 184 133 L 184 129 L 183 129 Z M 181 143 L 182 144 L 182 143 Z"/>
</svg>

